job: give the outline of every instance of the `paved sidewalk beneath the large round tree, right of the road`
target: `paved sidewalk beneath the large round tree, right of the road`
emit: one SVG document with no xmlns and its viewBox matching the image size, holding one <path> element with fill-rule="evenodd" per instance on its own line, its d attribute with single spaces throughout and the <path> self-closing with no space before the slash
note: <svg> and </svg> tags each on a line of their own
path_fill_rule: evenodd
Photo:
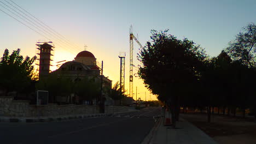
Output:
<svg viewBox="0 0 256 144">
<path fill-rule="evenodd" d="M 176 129 L 173 129 L 172 126 L 164 126 L 164 121 L 165 118 L 159 118 L 159 121 L 142 142 L 143 144 L 217 144 L 210 136 L 183 118 L 177 122 Z"/>
</svg>

